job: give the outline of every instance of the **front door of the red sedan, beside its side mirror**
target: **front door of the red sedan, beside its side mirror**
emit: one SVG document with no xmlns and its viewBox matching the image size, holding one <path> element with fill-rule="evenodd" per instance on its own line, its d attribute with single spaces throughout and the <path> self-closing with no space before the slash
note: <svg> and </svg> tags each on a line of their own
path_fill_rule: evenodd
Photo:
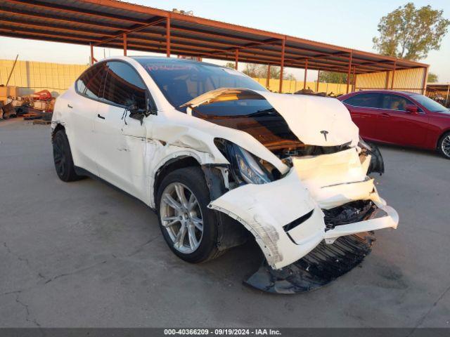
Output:
<svg viewBox="0 0 450 337">
<path fill-rule="evenodd" d="M 406 105 L 415 105 L 408 98 L 383 93 L 380 114 L 380 134 L 388 143 L 424 146 L 428 133 L 428 116 L 418 107 L 418 113 L 406 112 Z"/>
</svg>

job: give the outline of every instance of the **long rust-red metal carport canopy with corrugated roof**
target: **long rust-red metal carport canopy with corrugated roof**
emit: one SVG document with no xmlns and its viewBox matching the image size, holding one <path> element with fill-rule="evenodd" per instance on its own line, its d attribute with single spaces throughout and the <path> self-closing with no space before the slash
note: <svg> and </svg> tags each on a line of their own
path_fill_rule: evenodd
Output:
<svg viewBox="0 0 450 337">
<path fill-rule="evenodd" d="M 124 48 L 125 55 L 136 50 L 229 60 L 236 67 L 241 61 L 349 75 L 428 67 L 117 0 L 1 0 L 0 35 L 91 45 L 91 55 L 94 46 L 105 46 Z"/>
</svg>

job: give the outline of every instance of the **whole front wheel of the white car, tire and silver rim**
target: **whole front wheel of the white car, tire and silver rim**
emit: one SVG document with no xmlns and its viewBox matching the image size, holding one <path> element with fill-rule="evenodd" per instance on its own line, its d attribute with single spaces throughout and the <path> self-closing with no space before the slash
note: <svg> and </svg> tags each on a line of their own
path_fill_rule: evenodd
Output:
<svg viewBox="0 0 450 337">
<path fill-rule="evenodd" d="M 198 167 L 169 173 L 158 188 L 156 206 L 162 235 L 175 255 L 187 262 L 219 256 L 217 218 L 207 208 L 209 203 L 210 193 Z"/>
</svg>

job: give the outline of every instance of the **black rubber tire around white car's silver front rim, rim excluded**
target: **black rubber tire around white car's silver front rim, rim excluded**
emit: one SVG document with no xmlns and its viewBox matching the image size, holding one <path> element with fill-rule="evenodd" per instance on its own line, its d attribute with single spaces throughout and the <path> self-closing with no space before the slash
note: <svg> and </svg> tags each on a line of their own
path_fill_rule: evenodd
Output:
<svg viewBox="0 0 450 337">
<path fill-rule="evenodd" d="M 161 199 L 166 187 L 173 183 L 181 183 L 188 187 L 198 201 L 203 218 L 203 236 L 200 239 L 200 245 L 192 253 L 182 253 L 174 247 L 170 234 L 166 227 L 162 225 Z M 221 255 L 217 249 L 217 216 L 211 209 L 207 208 L 210 203 L 210 192 L 207 188 L 205 176 L 199 167 L 190 166 L 184 169 L 178 169 L 169 173 L 160 184 L 156 194 L 156 210 L 158 212 L 158 221 L 162 236 L 169 248 L 176 256 L 189 263 L 203 263 L 212 260 Z"/>
</svg>

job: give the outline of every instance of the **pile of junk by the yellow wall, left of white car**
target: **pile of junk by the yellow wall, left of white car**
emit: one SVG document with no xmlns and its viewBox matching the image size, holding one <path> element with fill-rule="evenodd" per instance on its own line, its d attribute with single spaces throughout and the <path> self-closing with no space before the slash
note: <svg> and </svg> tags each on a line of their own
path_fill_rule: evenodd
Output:
<svg viewBox="0 0 450 337">
<path fill-rule="evenodd" d="M 0 86 L 0 119 L 23 117 L 50 122 L 55 100 L 48 90 L 21 96 L 17 86 Z"/>
</svg>

